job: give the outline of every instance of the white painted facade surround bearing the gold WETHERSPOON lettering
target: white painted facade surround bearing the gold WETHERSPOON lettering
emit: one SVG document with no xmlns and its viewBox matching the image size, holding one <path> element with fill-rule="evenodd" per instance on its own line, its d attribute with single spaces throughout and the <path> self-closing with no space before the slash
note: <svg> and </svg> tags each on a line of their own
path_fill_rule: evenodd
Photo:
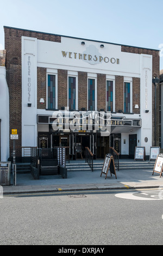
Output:
<svg viewBox="0 0 163 256">
<path fill-rule="evenodd" d="M 84 40 L 85 45 L 81 45 L 81 41 L 61 36 L 60 43 L 22 36 L 22 147 L 37 146 L 37 132 L 48 130 L 45 125 L 37 125 L 37 114 L 53 114 L 53 111 L 37 109 L 39 66 L 47 68 L 47 74 L 55 75 L 58 69 L 68 70 L 68 74 L 74 76 L 77 76 L 77 71 L 84 71 L 95 79 L 98 73 L 106 74 L 106 78 L 111 77 L 114 81 L 115 76 L 119 75 L 124 77 L 124 81 L 130 81 L 131 88 L 132 77 L 139 77 L 140 114 L 127 114 L 127 118 L 141 119 L 142 125 L 139 128 L 115 127 L 114 132 L 121 133 L 122 144 L 126 140 L 121 154 L 128 154 L 128 135 L 137 133 L 137 146 L 146 147 L 146 155 L 149 155 L 152 146 L 152 55 L 121 52 L 120 45 L 109 43 L 104 43 L 104 48 L 101 48 L 100 42 L 91 40 Z M 96 92 L 96 104 L 97 97 Z M 28 103 L 32 103 L 32 106 L 28 107 Z M 132 103 L 131 100 L 131 111 Z M 146 113 L 146 110 L 149 112 Z M 116 113 L 114 116 L 126 117 L 126 114 Z"/>
</svg>

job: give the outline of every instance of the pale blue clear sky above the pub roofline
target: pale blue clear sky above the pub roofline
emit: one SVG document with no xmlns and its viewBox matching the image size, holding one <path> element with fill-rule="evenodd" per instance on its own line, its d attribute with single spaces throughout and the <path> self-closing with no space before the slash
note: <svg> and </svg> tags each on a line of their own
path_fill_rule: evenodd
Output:
<svg viewBox="0 0 163 256">
<path fill-rule="evenodd" d="M 0 0 L 3 26 L 160 50 L 162 0 Z"/>
</svg>

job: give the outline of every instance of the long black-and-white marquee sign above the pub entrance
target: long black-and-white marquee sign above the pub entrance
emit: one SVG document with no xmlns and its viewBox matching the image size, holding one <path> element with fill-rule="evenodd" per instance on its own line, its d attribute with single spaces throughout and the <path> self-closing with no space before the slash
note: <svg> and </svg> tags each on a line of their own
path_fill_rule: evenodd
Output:
<svg viewBox="0 0 163 256">
<path fill-rule="evenodd" d="M 37 115 L 37 124 L 52 124 L 53 130 L 107 130 L 111 126 L 141 127 L 141 119 L 111 117 L 110 112 L 56 111 L 53 115 Z M 54 129 L 55 126 L 55 129 Z"/>
</svg>

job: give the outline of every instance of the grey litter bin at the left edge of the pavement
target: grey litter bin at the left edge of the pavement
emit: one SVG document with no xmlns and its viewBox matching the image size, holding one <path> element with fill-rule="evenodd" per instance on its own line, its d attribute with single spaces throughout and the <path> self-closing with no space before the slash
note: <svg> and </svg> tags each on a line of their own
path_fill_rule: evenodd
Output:
<svg viewBox="0 0 163 256">
<path fill-rule="evenodd" d="M 0 185 L 10 185 L 11 162 L 0 162 Z"/>
</svg>

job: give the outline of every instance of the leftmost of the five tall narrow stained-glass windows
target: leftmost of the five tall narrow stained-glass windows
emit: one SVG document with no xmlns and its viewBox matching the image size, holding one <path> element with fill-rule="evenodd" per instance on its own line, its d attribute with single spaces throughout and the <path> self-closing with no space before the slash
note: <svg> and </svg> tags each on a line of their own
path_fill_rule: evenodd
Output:
<svg viewBox="0 0 163 256">
<path fill-rule="evenodd" d="M 48 75 L 48 109 L 55 109 L 55 75 Z"/>
</svg>

